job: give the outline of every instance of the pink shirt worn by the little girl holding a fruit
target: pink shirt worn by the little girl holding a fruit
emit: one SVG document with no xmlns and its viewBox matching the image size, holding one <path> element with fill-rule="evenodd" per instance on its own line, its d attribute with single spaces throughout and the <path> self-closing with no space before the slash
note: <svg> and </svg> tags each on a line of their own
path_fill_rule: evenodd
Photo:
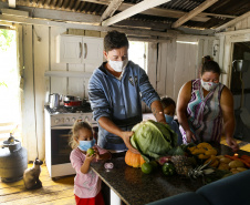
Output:
<svg viewBox="0 0 250 205">
<path fill-rule="evenodd" d="M 107 152 L 98 146 L 96 147 L 98 148 L 100 154 Z M 92 198 L 100 193 L 102 181 L 92 168 L 90 168 L 86 174 L 81 172 L 81 166 L 83 165 L 85 157 L 86 155 L 79 148 L 74 148 L 71 152 L 71 164 L 76 172 L 74 177 L 74 194 L 80 198 Z M 93 160 L 91 163 L 94 162 L 97 162 L 97 160 Z"/>
</svg>

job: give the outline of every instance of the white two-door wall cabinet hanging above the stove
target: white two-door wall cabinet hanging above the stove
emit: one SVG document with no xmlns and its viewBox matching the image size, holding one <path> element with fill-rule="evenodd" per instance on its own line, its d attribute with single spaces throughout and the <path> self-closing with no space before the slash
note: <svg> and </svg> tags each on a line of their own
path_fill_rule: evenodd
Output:
<svg viewBox="0 0 250 205">
<path fill-rule="evenodd" d="M 103 38 L 58 35 L 56 62 L 101 64 L 103 62 Z"/>
</svg>

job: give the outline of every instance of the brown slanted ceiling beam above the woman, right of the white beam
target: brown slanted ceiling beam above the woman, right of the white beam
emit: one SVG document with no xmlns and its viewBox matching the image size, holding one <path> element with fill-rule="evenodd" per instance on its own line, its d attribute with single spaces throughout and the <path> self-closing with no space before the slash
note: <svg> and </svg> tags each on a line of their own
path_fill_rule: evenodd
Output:
<svg viewBox="0 0 250 205">
<path fill-rule="evenodd" d="M 189 21 L 191 18 L 196 17 L 197 14 L 201 13 L 204 10 L 216 3 L 218 0 L 206 0 L 198 7 L 196 7 L 194 10 L 190 12 L 186 13 L 181 18 L 179 18 L 176 22 L 173 23 L 171 28 L 178 28 L 185 22 Z"/>
</svg>

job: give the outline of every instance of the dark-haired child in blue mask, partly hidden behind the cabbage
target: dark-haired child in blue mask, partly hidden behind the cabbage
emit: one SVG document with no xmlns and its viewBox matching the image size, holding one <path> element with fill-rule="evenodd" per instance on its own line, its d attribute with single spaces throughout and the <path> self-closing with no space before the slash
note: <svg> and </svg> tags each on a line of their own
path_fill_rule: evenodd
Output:
<svg viewBox="0 0 250 205">
<path fill-rule="evenodd" d="M 164 115 L 168 125 L 170 125 L 171 130 L 178 135 L 178 145 L 183 144 L 183 135 L 179 131 L 179 125 L 174 120 L 174 115 L 176 112 L 176 103 L 170 98 L 163 98 L 160 100 L 164 109 Z"/>
</svg>

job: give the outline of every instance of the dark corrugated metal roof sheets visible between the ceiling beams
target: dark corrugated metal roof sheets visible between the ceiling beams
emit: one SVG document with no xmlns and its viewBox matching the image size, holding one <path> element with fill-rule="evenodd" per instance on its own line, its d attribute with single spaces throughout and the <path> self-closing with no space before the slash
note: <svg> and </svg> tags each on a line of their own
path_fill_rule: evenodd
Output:
<svg viewBox="0 0 250 205">
<path fill-rule="evenodd" d="M 8 2 L 8 0 L 0 0 L 0 1 Z M 124 0 L 123 3 L 136 4 L 142 1 L 143 0 Z M 206 0 L 171 0 L 157 8 L 181 11 L 181 12 L 190 12 L 205 1 Z M 79 12 L 79 13 L 95 14 L 101 17 L 107 8 L 107 1 L 105 2 L 103 0 L 103 1 L 100 1 L 100 3 L 93 3 L 93 2 L 81 1 L 81 0 L 17 0 L 17 6 L 53 9 L 53 10 L 60 10 L 60 11 L 72 11 L 72 12 Z M 201 21 L 194 21 L 192 19 L 184 23 L 183 27 L 196 28 L 196 29 L 217 28 L 232 20 L 232 18 L 216 17 L 215 14 L 228 14 L 228 16 L 239 17 L 248 12 L 250 10 L 249 8 L 250 8 L 249 0 L 219 0 L 218 2 L 216 2 L 215 4 L 212 4 L 207 10 L 204 11 L 207 14 L 206 17 L 209 18 L 208 21 L 201 22 Z M 119 11 L 116 11 L 115 13 L 118 13 L 118 12 Z M 209 13 L 213 13 L 213 14 L 209 16 Z M 159 22 L 159 23 L 166 23 L 166 25 L 171 25 L 171 23 L 177 21 L 178 18 L 179 17 L 168 18 L 168 17 L 160 17 L 157 14 L 153 16 L 153 14 L 138 13 L 136 16 L 131 17 L 128 20 L 136 20 L 142 22 Z"/>
</svg>

